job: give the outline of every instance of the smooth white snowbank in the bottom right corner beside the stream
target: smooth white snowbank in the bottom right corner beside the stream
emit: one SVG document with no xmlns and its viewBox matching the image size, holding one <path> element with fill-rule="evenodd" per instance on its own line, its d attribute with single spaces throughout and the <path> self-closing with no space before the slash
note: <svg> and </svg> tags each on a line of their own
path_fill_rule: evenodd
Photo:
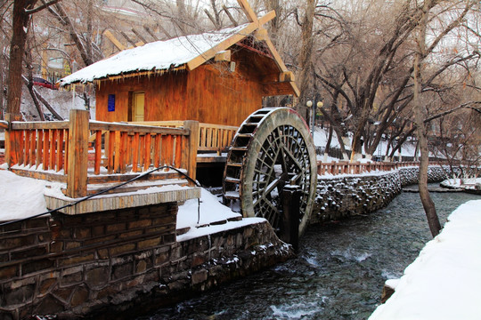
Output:
<svg viewBox="0 0 481 320">
<path fill-rule="evenodd" d="M 456 209 L 369 320 L 478 320 L 481 317 L 481 200 Z"/>
</svg>

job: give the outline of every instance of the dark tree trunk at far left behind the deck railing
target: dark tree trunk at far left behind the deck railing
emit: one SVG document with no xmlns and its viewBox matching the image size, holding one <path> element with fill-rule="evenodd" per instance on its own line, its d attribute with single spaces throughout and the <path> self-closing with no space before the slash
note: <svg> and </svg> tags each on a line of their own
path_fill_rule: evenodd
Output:
<svg viewBox="0 0 481 320">
<path fill-rule="evenodd" d="M 13 3 L 12 41 L 10 43 L 10 61 L 8 65 L 7 112 L 12 116 L 20 116 L 21 72 L 29 14 L 25 9 L 31 8 L 36 0 L 15 0 Z"/>
</svg>

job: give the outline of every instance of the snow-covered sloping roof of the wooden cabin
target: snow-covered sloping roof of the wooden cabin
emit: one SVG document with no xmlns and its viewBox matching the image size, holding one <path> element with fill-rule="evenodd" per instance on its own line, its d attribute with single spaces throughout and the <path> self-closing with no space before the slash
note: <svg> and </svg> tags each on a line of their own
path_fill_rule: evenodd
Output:
<svg viewBox="0 0 481 320">
<path fill-rule="evenodd" d="M 248 31 L 246 30 L 247 27 L 249 27 L 249 23 L 235 28 L 224 28 L 200 35 L 179 36 L 170 40 L 156 41 L 127 49 L 62 78 L 60 84 L 85 84 L 108 76 L 179 68 L 199 56 L 206 55 L 208 51 L 218 44 L 223 44 L 230 37 L 239 35 L 244 30 Z M 221 50 L 224 49 L 219 48 L 219 51 Z M 206 58 L 209 59 L 210 57 Z"/>
</svg>

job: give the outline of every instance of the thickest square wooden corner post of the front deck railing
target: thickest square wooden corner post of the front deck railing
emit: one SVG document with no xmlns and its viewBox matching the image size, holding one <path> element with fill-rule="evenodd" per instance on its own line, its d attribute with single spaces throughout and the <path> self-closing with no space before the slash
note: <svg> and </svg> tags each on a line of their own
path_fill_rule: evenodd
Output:
<svg viewBox="0 0 481 320">
<path fill-rule="evenodd" d="M 87 193 L 88 111 L 71 109 L 69 114 L 69 172 L 67 196 L 81 197 Z"/>
</svg>

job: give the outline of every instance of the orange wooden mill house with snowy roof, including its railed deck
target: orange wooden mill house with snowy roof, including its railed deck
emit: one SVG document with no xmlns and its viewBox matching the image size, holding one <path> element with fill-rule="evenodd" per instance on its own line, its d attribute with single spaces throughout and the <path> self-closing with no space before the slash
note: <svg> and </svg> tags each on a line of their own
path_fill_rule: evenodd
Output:
<svg viewBox="0 0 481 320">
<path fill-rule="evenodd" d="M 95 85 L 96 120 L 72 110 L 69 121 L 12 122 L 10 170 L 65 182 L 65 195 L 79 197 L 162 164 L 192 178 L 198 164 L 222 164 L 222 157 L 198 154 L 224 151 L 263 97 L 298 95 L 264 28 L 275 12 L 257 19 L 246 0 L 239 4 L 248 23 L 144 44 L 61 79 L 63 86 Z M 181 178 L 170 171 L 149 179 L 187 184 Z"/>
</svg>

